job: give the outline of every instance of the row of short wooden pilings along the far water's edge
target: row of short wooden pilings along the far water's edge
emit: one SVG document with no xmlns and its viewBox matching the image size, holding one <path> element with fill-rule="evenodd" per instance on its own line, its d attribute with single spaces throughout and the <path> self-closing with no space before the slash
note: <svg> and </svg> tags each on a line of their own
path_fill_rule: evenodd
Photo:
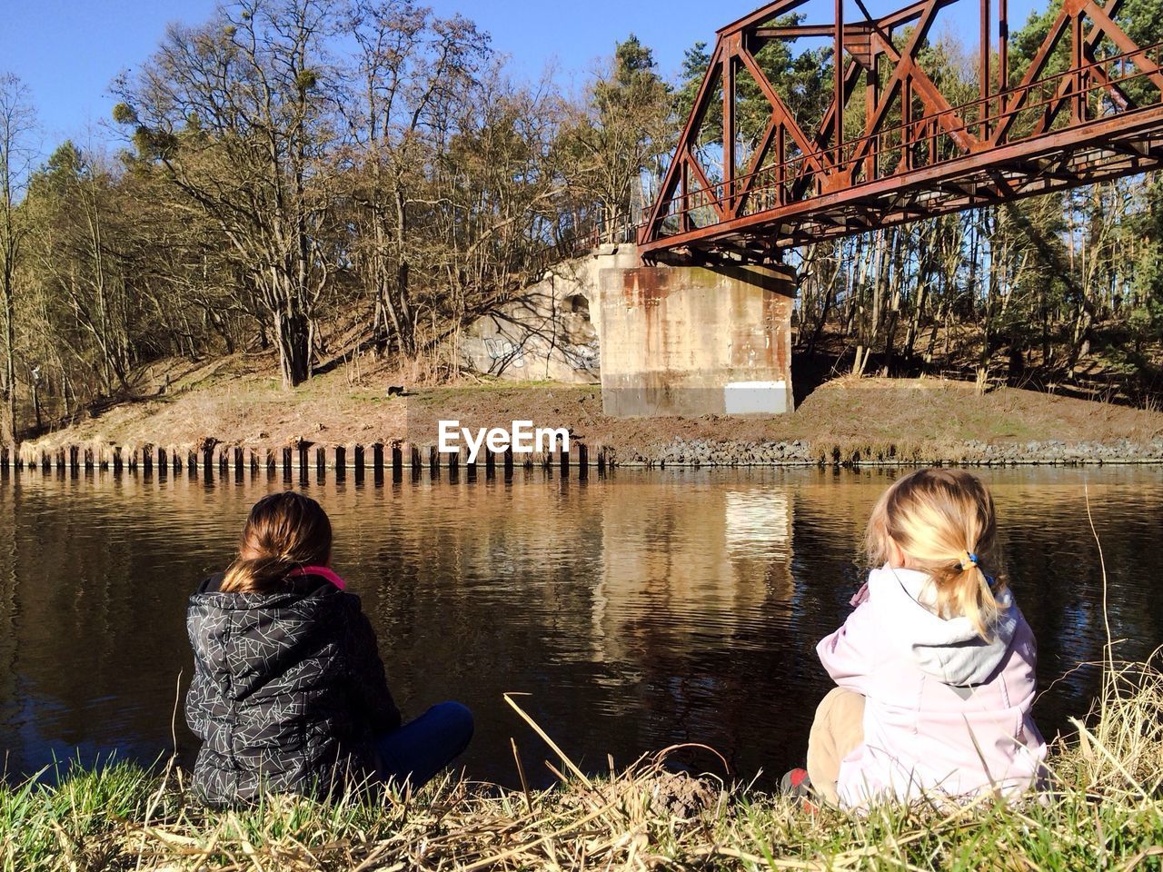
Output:
<svg viewBox="0 0 1163 872">
<path fill-rule="evenodd" d="M 112 472 L 190 477 L 202 476 L 257 476 L 259 473 L 297 477 L 300 480 L 314 472 L 316 479 L 326 478 L 328 471 L 336 478 L 351 472 L 356 478 L 366 473 L 381 477 L 391 473 L 402 478 L 407 470 L 412 478 L 440 478 L 442 471 L 459 476 L 461 471 L 472 480 L 481 471 L 492 478 L 500 470 L 511 476 L 516 469 L 547 469 L 562 476 L 576 473 L 585 478 L 591 469 L 605 472 L 612 465 L 609 452 L 599 448 L 591 452 L 582 442 L 573 442 L 569 451 L 534 452 L 515 455 L 512 450 L 493 452 L 481 449 L 476 462 L 468 462 L 468 449 L 457 452 L 440 452 L 435 445 L 415 445 L 406 442 L 390 444 L 347 445 L 283 445 L 278 448 L 226 445 L 190 448 L 180 445 L 107 445 L 84 444 L 56 449 L 21 446 L 15 451 L 0 448 L 0 470 L 5 472 Z"/>
</svg>

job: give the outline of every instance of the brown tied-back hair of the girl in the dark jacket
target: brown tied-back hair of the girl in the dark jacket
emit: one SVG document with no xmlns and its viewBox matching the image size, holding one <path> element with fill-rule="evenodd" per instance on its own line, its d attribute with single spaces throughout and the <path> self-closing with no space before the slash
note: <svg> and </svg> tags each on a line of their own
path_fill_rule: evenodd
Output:
<svg viewBox="0 0 1163 872">
<path fill-rule="evenodd" d="M 272 493 L 250 509 L 238 558 L 219 589 L 269 593 L 300 566 L 326 566 L 331 559 L 331 522 L 322 506 L 294 491 Z"/>
</svg>

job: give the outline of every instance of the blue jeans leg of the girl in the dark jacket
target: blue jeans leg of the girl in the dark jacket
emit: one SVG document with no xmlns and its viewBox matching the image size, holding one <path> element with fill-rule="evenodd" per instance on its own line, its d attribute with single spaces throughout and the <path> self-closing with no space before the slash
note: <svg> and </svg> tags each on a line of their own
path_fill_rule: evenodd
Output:
<svg viewBox="0 0 1163 872">
<path fill-rule="evenodd" d="M 419 789 L 459 757 L 472 738 L 472 713 L 459 702 L 441 702 L 376 739 L 383 781 Z"/>
</svg>

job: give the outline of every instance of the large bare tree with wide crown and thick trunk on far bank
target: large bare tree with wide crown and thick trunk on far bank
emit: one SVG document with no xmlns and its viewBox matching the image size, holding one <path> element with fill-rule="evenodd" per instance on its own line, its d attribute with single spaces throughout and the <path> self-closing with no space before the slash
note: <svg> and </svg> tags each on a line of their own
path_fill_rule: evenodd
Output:
<svg viewBox="0 0 1163 872">
<path fill-rule="evenodd" d="M 276 334 L 285 387 L 311 374 L 314 306 L 333 265 L 324 238 L 335 145 L 326 0 L 238 0 L 205 27 L 171 26 L 116 92 L 115 119 L 209 217 Z"/>
</svg>

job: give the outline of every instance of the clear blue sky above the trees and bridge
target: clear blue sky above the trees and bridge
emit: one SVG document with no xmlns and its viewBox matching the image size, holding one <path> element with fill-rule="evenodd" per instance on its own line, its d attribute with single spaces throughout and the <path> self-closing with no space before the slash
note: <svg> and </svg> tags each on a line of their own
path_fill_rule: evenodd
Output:
<svg viewBox="0 0 1163 872">
<path fill-rule="evenodd" d="M 14 72 L 31 91 L 45 152 L 65 137 L 87 142 L 113 136 L 109 83 L 147 58 L 170 21 L 199 23 L 214 0 L 0 0 L 0 72 Z M 757 0 L 429 0 L 436 12 L 461 12 L 493 36 L 512 59 L 513 71 L 536 78 L 556 70 L 566 86 L 580 84 L 614 43 L 636 34 L 655 50 L 665 74 L 678 71 L 683 51 L 697 40 L 714 41 L 718 28 L 759 6 Z M 873 15 L 905 0 L 870 0 Z M 1016 27 L 1042 0 L 1011 0 Z M 825 6 L 811 0 L 812 20 L 826 20 Z M 846 0 L 846 14 L 858 15 Z M 941 28 L 959 30 L 977 44 L 977 2 L 959 0 L 942 13 Z"/>
</svg>

